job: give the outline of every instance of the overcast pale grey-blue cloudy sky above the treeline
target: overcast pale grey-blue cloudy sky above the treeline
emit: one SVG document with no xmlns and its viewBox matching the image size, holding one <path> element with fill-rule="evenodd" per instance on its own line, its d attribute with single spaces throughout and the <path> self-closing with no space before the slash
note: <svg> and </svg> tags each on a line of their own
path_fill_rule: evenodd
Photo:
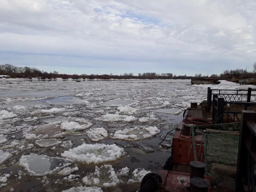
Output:
<svg viewBox="0 0 256 192">
<path fill-rule="evenodd" d="M 256 1 L 0 0 L 0 64 L 67 74 L 252 70 Z"/>
</svg>

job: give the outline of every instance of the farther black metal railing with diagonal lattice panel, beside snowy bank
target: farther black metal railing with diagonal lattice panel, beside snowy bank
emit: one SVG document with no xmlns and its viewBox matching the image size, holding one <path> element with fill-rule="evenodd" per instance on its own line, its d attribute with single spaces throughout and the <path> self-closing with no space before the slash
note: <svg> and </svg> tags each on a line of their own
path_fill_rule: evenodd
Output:
<svg viewBox="0 0 256 192">
<path fill-rule="evenodd" d="M 239 93 L 241 91 L 245 91 L 246 93 Z M 256 91 L 255 89 L 248 88 L 247 90 L 243 89 L 211 89 L 208 87 L 207 89 L 207 105 L 208 109 L 211 110 L 212 107 L 212 97 L 217 94 L 218 98 L 224 98 L 225 102 L 251 102 L 251 96 L 256 96 L 256 94 L 252 94 L 252 91 Z M 256 103 L 256 102 L 255 102 Z"/>
</svg>

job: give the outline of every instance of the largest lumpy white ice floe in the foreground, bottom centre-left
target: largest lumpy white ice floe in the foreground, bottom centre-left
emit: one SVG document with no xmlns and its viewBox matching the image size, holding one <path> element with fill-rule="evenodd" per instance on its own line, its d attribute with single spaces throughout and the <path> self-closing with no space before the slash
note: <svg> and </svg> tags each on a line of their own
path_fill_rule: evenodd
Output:
<svg viewBox="0 0 256 192">
<path fill-rule="evenodd" d="M 64 151 L 62 157 L 86 163 L 98 164 L 103 162 L 115 161 L 124 155 L 124 148 L 116 146 L 116 144 L 82 144 L 76 148 Z"/>
</svg>

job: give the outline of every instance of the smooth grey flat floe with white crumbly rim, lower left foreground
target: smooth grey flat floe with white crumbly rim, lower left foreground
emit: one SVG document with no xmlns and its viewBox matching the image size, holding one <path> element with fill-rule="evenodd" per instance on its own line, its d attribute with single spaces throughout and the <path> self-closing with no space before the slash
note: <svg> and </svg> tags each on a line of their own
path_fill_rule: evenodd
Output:
<svg viewBox="0 0 256 192">
<path fill-rule="evenodd" d="M 30 154 L 21 156 L 19 165 L 23 166 L 30 175 L 44 176 L 57 172 L 70 165 L 70 163 L 68 163 L 68 160 L 59 157 Z"/>
</svg>

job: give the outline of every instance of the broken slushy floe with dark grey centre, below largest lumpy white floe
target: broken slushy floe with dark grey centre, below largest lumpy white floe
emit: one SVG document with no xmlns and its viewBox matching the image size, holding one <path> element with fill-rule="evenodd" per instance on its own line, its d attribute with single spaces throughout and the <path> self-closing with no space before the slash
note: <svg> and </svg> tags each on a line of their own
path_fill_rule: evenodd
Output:
<svg viewBox="0 0 256 192">
<path fill-rule="evenodd" d="M 95 172 L 85 176 L 82 181 L 86 185 L 97 185 L 104 187 L 114 187 L 120 183 L 112 165 L 95 166 Z"/>
</svg>

